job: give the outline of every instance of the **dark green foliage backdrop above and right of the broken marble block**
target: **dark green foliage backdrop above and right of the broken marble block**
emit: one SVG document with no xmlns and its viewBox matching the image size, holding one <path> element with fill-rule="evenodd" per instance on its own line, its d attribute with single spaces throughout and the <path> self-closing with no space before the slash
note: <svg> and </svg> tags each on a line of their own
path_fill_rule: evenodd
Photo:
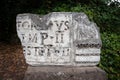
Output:
<svg viewBox="0 0 120 80">
<path fill-rule="evenodd" d="M 0 40 L 16 34 L 18 13 L 84 12 L 100 27 L 102 53 L 99 67 L 108 80 L 120 80 L 120 3 L 110 0 L 2 0 Z M 7 24 L 6 24 L 7 23 Z"/>
</svg>

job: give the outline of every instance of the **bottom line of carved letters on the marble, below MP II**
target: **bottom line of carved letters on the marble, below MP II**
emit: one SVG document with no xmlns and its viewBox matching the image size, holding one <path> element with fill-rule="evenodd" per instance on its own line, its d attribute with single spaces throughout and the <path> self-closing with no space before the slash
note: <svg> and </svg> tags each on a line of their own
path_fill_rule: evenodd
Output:
<svg viewBox="0 0 120 80">
<path fill-rule="evenodd" d="M 26 55 L 31 55 L 32 51 L 35 53 L 34 56 L 48 56 L 50 57 L 52 54 L 54 54 L 54 56 L 68 56 L 70 53 L 70 48 L 60 48 L 57 49 L 55 47 L 31 47 L 31 46 L 23 46 L 24 49 L 24 53 L 26 53 Z"/>
</svg>

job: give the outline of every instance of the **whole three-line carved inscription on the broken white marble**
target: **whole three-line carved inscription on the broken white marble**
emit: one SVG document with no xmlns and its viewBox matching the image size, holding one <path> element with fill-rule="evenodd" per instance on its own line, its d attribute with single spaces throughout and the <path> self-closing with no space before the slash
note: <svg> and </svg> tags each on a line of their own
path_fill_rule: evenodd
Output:
<svg viewBox="0 0 120 80">
<path fill-rule="evenodd" d="M 20 29 L 25 30 L 20 35 L 22 43 L 28 44 L 28 46 L 23 46 L 25 55 L 30 58 L 33 56 L 42 57 L 45 58 L 44 61 L 48 59 L 51 62 L 60 62 L 61 60 L 69 62 L 70 47 L 68 45 L 65 46 L 66 43 L 69 43 L 69 21 L 54 20 L 49 21 L 49 24 L 53 28 L 49 28 L 48 31 L 41 30 L 34 32 L 33 26 L 30 26 L 29 22 L 18 23 L 18 31 Z M 30 32 L 26 33 L 26 30 L 30 30 Z M 39 45 L 33 47 L 29 46 L 29 44 Z"/>
</svg>

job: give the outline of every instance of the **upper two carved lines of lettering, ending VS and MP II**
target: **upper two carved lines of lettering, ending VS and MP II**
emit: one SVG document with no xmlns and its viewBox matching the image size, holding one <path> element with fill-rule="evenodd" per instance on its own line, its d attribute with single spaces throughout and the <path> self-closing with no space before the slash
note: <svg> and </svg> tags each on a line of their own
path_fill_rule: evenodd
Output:
<svg viewBox="0 0 120 80">
<path fill-rule="evenodd" d="M 45 40 L 47 40 L 48 38 L 50 38 L 52 40 L 54 38 L 55 39 L 54 43 L 64 43 L 64 36 L 66 36 L 64 34 L 69 29 L 69 26 L 68 26 L 69 21 L 61 21 L 60 23 L 58 23 L 57 20 L 55 20 L 53 22 L 50 21 L 50 23 L 55 24 L 55 27 L 57 28 L 57 30 L 54 32 L 55 33 L 54 36 L 50 36 L 49 33 L 47 31 L 44 31 L 44 30 L 43 30 L 43 32 L 41 30 L 41 32 L 32 33 L 32 28 L 30 28 L 30 26 L 28 26 L 28 22 L 27 21 L 23 22 L 21 29 L 23 29 L 23 30 L 31 29 L 31 32 L 28 34 L 26 32 L 25 33 L 23 32 L 21 34 L 22 42 L 23 43 L 25 43 L 25 42 L 26 43 L 30 43 L 30 42 L 31 43 L 38 43 L 38 40 L 40 39 L 41 40 L 40 44 L 46 45 L 44 42 Z M 20 22 L 18 24 L 20 25 Z M 18 31 L 19 31 L 19 28 L 20 28 L 20 26 L 18 26 Z"/>
</svg>

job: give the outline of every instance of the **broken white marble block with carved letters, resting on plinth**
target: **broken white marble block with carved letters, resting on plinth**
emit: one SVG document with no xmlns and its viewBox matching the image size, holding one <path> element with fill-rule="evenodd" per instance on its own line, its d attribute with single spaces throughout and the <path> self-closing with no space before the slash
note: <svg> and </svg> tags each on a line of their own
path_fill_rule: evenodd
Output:
<svg viewBox="0 0 120 80">
<path fill-rule="evenodd" d="M 24 13 L 16 23 L 29 65 L 95 66 L 100 61 L 99 28 L 84 13 Z"/>
</svg>

